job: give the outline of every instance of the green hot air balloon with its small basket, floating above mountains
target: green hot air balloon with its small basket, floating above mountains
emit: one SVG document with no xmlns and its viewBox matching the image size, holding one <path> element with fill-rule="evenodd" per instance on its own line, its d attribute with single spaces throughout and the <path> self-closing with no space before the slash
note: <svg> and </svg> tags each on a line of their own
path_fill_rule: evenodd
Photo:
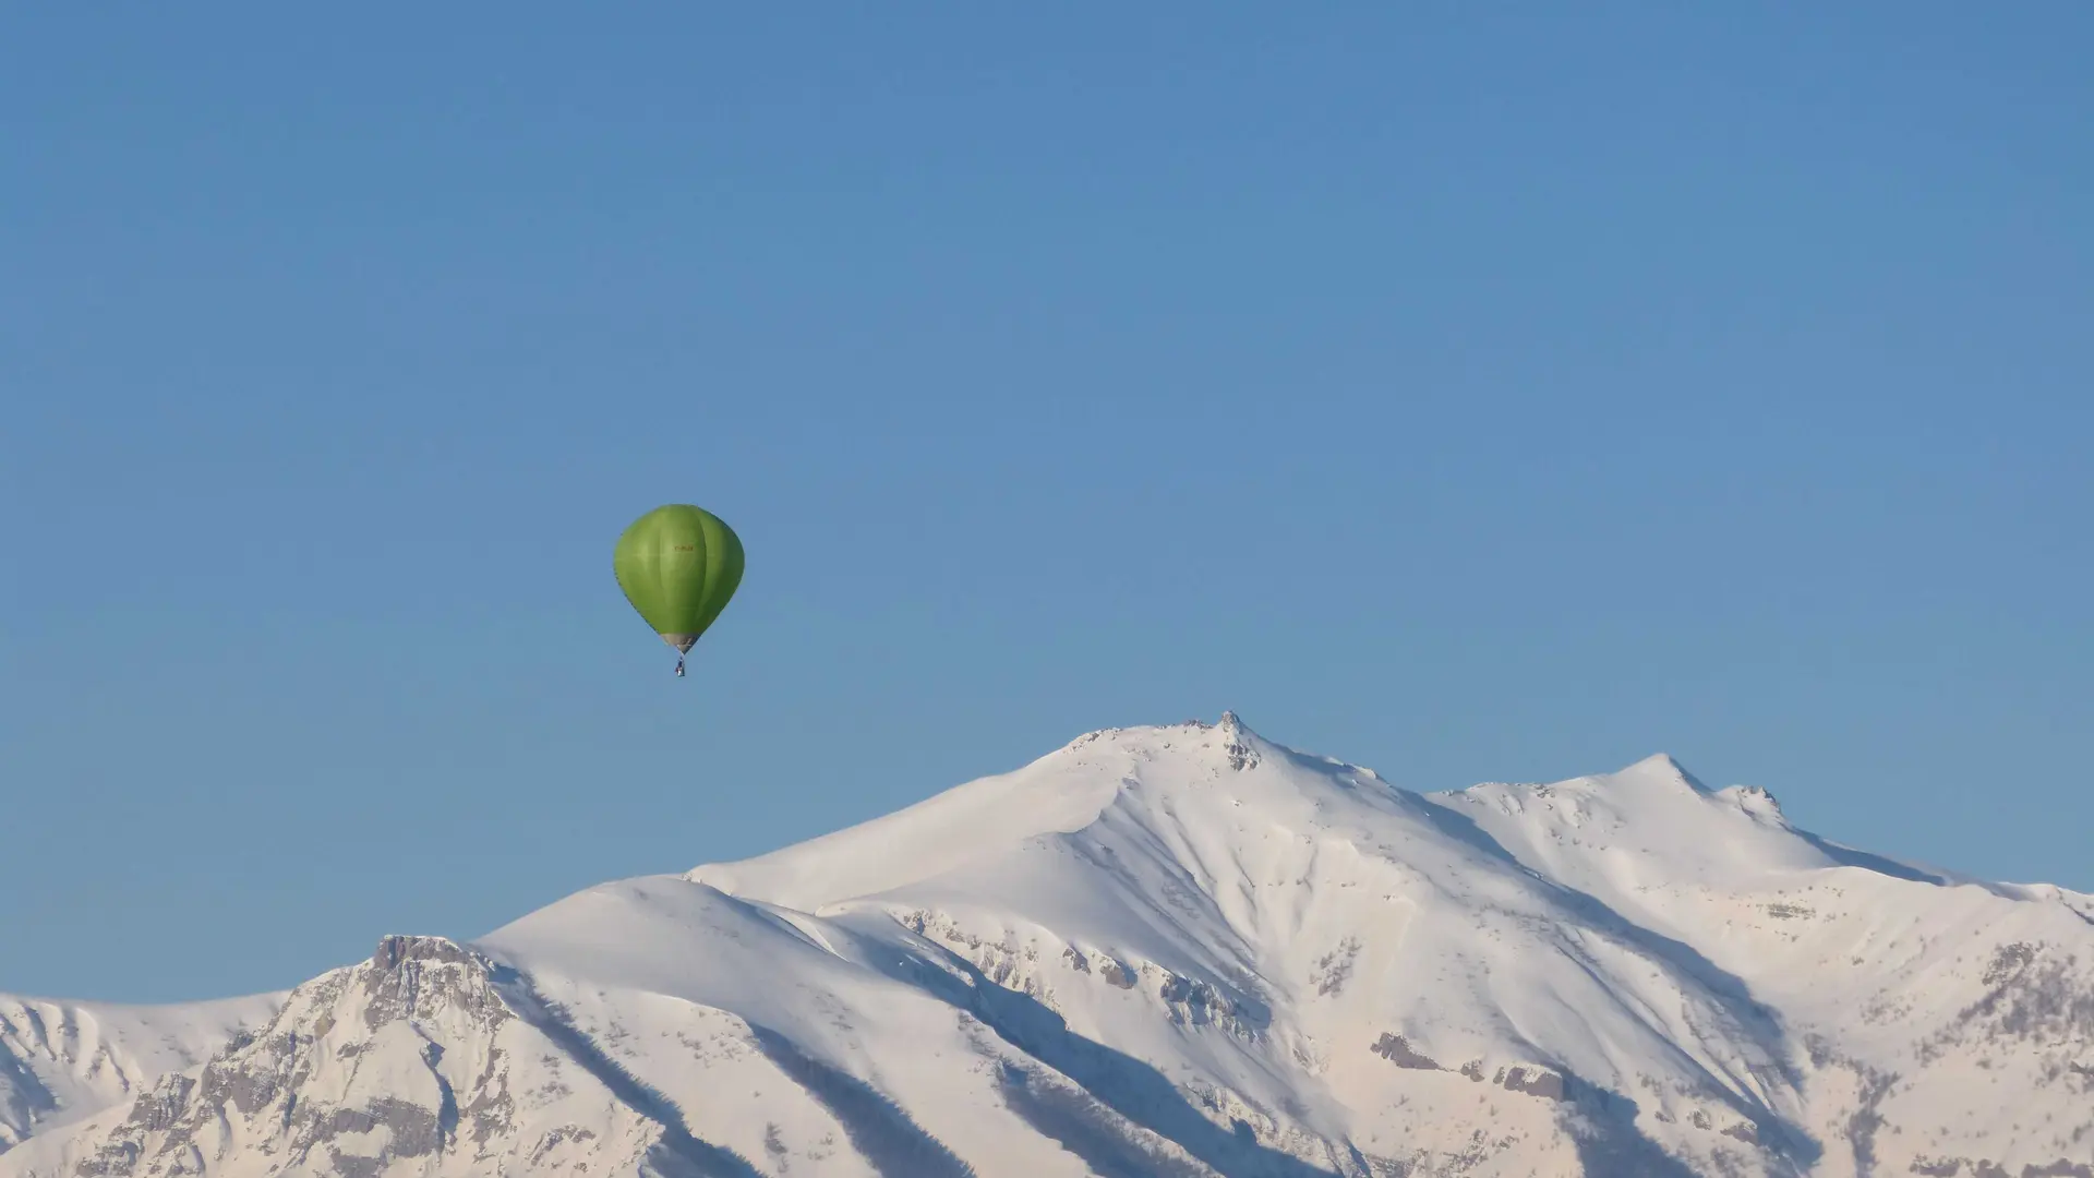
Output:
<svg viewBox="0 0 2094 1178">
<path fill-rule="evenodd" d="M 683 675 L 683 656 L 741 585 L 741 539 L 712 511 L 670 503 L 632 520 L 618 537 L 611 570 L 626 602 L 676 648 Z"/>
</svg>

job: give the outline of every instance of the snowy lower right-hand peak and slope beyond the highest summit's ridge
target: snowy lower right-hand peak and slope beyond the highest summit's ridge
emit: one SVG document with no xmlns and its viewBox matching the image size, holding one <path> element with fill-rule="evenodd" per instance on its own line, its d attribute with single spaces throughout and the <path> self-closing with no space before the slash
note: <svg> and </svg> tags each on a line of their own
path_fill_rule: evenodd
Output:
<svg viewBox="0 0 2094 1178">
<path fill-rule="evenodd" d="M 1851 851 L 1669 759 L 1430 801 L 1780 1010 L 1822 1172 L 2094 1161 L 2090 897 Z"/>
</svg>

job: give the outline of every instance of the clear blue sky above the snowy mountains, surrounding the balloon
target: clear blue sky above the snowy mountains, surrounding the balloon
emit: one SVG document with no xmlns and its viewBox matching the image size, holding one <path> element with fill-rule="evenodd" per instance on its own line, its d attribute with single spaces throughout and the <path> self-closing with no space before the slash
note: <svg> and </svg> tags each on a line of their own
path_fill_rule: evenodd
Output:
<svg viewBox="0 0 2094 1178">
<path fill-rule="evenodd" d="M 777 8 L 10 19 L 0 989 L 1227 706 L 2094 889 L 2094 8 Z"/>
</svg>

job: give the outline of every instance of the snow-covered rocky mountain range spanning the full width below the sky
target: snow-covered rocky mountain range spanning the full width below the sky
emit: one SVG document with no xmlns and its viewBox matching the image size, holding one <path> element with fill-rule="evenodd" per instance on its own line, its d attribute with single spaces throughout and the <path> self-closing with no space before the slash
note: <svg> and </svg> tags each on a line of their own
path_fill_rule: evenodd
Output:
<svg viewBox="0 0 2094 1178">
<path fill-rule="evenodd" d="M 0 1176 L 2094 1178 L 2094 897 L 1665 757 L 1413 794 L 1235 717 L 243 1010 Z"/>
</svg>

